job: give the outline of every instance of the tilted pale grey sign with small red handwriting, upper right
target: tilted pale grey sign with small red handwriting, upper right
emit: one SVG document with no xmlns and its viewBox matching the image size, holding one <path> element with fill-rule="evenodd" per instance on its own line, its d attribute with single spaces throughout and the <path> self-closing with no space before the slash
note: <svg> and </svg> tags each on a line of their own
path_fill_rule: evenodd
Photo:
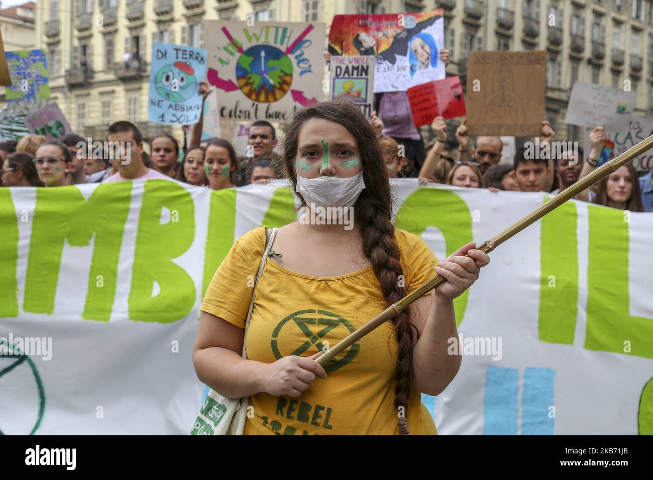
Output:
<svg viewBox="0 0 653 480">
<path fill-rule="evenodd" d="M 637 93 L 634 91 L 576 82 L 569 95 L 565 123 L 624 129 L 632 120 L 636 105 Z"/>
</svg>

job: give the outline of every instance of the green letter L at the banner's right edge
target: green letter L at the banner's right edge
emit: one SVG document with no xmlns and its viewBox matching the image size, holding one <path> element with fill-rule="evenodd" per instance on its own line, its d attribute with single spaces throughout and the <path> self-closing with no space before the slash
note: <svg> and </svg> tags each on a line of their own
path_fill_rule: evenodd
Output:
<svg viewBox="0 0 653 480">
<path fill-rule="evenodd" d="M 653 319 L 629 312 L 628 225 L 624 212 L 588 205 L 585 348 L 653 359 Z M 628 349 L 626 348 L 628 345 Z"/>
</svg>

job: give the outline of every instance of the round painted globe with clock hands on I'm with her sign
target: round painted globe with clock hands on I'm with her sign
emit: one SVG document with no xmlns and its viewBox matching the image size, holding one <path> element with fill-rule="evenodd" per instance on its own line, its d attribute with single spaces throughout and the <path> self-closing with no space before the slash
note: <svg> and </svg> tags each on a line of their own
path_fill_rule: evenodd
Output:
<svg viewBox="0 0 653 480">
<path fill-rule="evenodd" d="M 247 98 L 261 103 L 276 102 L 293 83 L 293 63 L 274 46 L 255 45 L 238 57 L 236 82 Z"/>
</svg>

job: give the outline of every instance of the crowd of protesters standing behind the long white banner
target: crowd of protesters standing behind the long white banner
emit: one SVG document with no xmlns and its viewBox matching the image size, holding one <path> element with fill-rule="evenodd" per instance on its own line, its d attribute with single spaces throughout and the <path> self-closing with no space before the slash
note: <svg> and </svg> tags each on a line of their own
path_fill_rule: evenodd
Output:
<svg viewBox="0 0 653 480">
<path fill-rule="evenodd" d="M 327 61 L 330 59 L 325 54 Z M 440 51 L 448 65 L 449 52 Z M 208 84 L 199 89 L 204 99 Z M 555 132 L 549 121 L 542 121 L 539 147 L 547 154 L 532 155 L 525 146 L 517 149 L 512 163 L 501 163 L 503 142 L 498 136 L 470 138 L 466 121 L 458 126 L 456 142 L 447 135 L 447 121 L 436 118 L 430 125 L 434 140 L 424 145 L 415 127 L 406 92 L 375 95 L 370 121 L 379 136 L 389 178 L 413 177 L 421 184 L 439 183 L 456 187 L 487 188 L 499 191 L 545 191 L 552 195 L 590 174 L 606 140 L 601 126 L 590 133 L 591 150 L 583 159 L 581 148 L 562 152 L 556 158 L 551 142 Z M 378 113 L 377 113 L 378 112 Z M 118 121 L 106 131 L 109 143 L 129 144 L 129 159 L 111 159 L 111 155 L 79 152 L 86 140 L 70 134 L 61 142 L 40 135 L 27 135 L 20 141 L 0 142 L 2 169 L 0 185 L 9 187 L 56 187 L 97 182 L 119 182 L 147 178 L 174 178 L 214 190 L 266 184 L 283 177 L 279 166 L 277 133 L 268 121 L 255 121 L 248 130 L 249 156 L 237 155 L 232 144 L 221 138 L 200 145 L 202 120 L 187 127 L 190 146 L 180 148 L 174 136 L 161 133 L 149 140 L 150 153 L 144 150 L 144 138 L 129 121 Z M 454 151 L 453 144 L 458 150 Z M 587 146 L 586 146 L 587 148 Z M 471 149 L 471 150 L 470 150 Z M 127 154 L 125 151 L 123 154 Z M 638 178 L 631 164 L 619 168 L 575 199 L 594 202 L 633 212 L 653 211 L 652 173 Z"/>
</svg>

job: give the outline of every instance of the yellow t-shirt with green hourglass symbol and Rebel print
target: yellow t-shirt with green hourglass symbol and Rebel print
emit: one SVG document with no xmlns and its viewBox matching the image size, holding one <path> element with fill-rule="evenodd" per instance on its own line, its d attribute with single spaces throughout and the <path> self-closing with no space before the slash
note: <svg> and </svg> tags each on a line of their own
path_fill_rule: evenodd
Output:
<svg viewBox="0 0 653 480">
<path fill-rule="evenodd" d="M 409 293 L 435 275 L 438 259 L 414 234 L 395 229 L 395 239 Z M 244 328 L 264 248 L 264 227 L 238 238 L 215 272 L 201 310 Z M 247 330 L 247 358 L 272 363 L 287 355 L 309 357 L 386 308 L 372 266 L 338 277 L 313 277 L 268 257 Z M 254 416 L 247 418 L 244 434 L 400 434 L 394 408 L 396 350 L 396 334 L 387 321 L 332 359 L 325 366 L 327 378 L 317 377 L 298 398 L 250 396 Z M 407 419 L 413 435 L 438 433 L 417 390 L 411 392 Z"/>
</svg>

